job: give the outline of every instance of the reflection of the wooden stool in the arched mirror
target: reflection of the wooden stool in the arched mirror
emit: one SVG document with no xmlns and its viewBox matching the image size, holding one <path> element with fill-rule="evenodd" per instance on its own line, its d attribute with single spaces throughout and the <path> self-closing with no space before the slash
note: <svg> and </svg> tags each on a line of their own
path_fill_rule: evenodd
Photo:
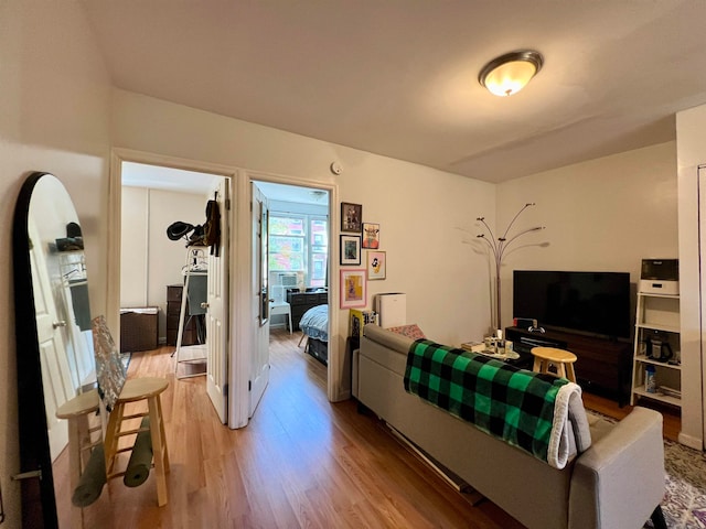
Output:
<svg viewBox="0 0 706 529">
<path fill-rule="evenodd" d="M 92 389 L 67 400 L 56 409 L 56 417 L 68 421 L 68 483 L 72 492 L 78 486 L 83 469 L 90 457 L 90 449 L 100 444 L 100 435 L 95 441 L 90 439 L 94 432 L 100 431 L 100 422 L 93 428 L 88 423 L 90 414 L 98 411 L 98 391 Z M 83 453 L 86 451 L 84 458 Z M 83 527 L 81 507 L 72 505 L 72 516 L 74 527 Z"/>
</svg>

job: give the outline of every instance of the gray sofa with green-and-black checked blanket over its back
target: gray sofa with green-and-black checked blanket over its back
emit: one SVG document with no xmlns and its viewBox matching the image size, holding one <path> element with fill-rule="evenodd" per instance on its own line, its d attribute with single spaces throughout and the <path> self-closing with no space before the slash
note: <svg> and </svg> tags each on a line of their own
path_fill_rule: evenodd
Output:
<svg viewBox="0 0 706 529">
<path fill-rule="evenodd" d="M 353 393 L 484 497 L 531 529 L 638 529 L 650 517 L 655 527 L 666 527 L 660 508 L 664 495 L 660 413 L 638 407 L 616 424 L 581 417 L 577 423 L 588 424 L 591 445 L 557 469 L 406 392 L 411 343 L 366 325 L 354 358 Z"/>
</svg>

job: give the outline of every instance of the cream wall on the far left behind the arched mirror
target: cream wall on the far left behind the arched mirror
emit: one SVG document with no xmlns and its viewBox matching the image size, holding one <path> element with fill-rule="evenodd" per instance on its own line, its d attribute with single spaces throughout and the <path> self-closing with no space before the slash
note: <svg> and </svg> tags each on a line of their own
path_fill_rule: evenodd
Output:
<svg viewBox="0 0 706 529">
<path fill-rule="evenodd" d="M 74 2 L 0 2 L 0 282 L 12 285 L 12 214 L 31 171 L 58 176 L 86 239 L 92 307 L 105 310 L 109 79 Z M 0 486 L 21 527 L 12 288 L 0 289 Z"/>
</svg>

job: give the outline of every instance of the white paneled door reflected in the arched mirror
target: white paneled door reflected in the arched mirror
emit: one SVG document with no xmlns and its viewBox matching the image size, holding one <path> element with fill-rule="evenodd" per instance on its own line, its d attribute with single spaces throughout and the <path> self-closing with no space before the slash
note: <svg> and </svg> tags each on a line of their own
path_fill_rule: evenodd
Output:
<svg viewBox="0 0 706 529">
<path fill-rule="evenodd" d="M 56 409 L 75 397 L 72 385 L 68 359 L 66 357 L 65 337 L 66 322 L 60 321 L 52 294 L 52 282 L 47 263 L 42 252 L 42 241 L 36 226 L 30 216 L 29 222 L 32 249 L 30 259 L 32 267 L 32 284 L 34 285 L 34 310 L 36 331 L 40 343 L 40 361 L 42 366 L 42 386 L 44 389 L 44 407 L 52 461 L 68 444 L 67 422 L 56 418 Z"/>
</svg>

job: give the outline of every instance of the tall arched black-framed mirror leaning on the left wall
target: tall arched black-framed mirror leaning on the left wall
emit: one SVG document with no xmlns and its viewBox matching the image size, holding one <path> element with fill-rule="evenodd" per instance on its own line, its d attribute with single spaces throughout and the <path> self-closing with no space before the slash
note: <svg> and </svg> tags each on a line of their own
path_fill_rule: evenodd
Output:
<svg viewBox="0 0 706 529">
<path fill-rule="evenodd" d="M 81 223 L 52 174 L 32 173 L 20 191 L 13 266 L 22 525 L 77 527 L 69 421 L 57 411 L 96 391 L 95 364 Z M 99 436 L 99 414 L 86 420 Z"/>
</svg>

